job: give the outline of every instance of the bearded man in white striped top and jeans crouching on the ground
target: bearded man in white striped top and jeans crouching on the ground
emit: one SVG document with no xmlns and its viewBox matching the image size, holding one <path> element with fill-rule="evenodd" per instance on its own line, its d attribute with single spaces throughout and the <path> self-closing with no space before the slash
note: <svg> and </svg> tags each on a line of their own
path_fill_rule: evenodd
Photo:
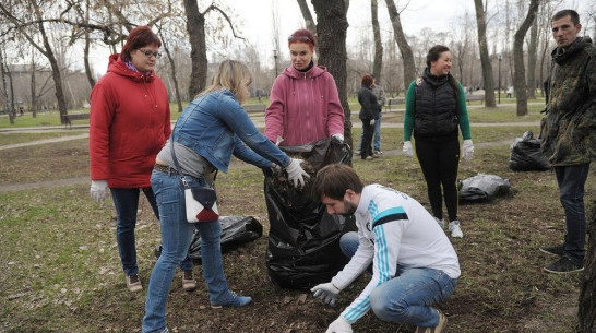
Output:
<svg viewBox="0 0 596 333">
<path fill-rule="evenodd" d="M 331 282 L 314 286 L 314 297 L 334 306 L 341 290 L 372 269 L 370 282 L 326 333 L 351 332 L 370 309 L 383 321 L 416 325 L 417 333 L 442 332 L 448 319 L 432 306 L 451 296 L 461 271 L 453 246 L 427 210 L 394 189 L 365 186 L 339 164 L 319 170 L 312 193 L 330 214 L 354 214 L 358 227 L 339 241 L 350 261 Z"/>
</svg>

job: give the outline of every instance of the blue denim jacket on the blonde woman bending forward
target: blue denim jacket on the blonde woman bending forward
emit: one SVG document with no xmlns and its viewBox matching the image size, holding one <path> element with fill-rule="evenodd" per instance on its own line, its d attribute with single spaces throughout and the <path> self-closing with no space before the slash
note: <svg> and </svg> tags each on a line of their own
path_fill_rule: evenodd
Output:
<svg viewBox="0 0 596 333">
<path fill-rule="evenodd" d="M 174 128 L 176 142 L 205 157 L 227 173 L 231 154 L 261 168 L 271 163 L 286 167 L 289 156 L 266 139 L 252 123 L 228 90 L 196 97 Z"/>
</svg>

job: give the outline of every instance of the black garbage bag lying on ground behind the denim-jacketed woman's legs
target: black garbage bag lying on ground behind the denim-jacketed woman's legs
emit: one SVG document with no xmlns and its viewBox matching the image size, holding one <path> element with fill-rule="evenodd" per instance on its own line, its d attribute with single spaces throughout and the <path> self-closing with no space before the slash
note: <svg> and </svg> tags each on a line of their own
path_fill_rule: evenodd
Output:
<svg viewBox="0 0 596 333">
<path fill-rule="evenodd" d="M 219 223 L 222 224 L 222 253 L 263 236 L 263 225 L 252 216 L 220 216 Z M 162 245 L 155 249 L 155 257 L 159 258 L 160 254 Z M 189 247 L 189 257 L 195 262 L 201 262 L 201 236 L 196 229 Z"/>
</svg>

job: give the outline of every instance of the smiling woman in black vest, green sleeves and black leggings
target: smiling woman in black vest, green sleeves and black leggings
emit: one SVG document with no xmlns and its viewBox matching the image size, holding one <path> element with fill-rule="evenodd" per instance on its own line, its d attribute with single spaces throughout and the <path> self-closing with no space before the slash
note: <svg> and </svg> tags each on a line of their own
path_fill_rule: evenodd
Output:
<svg viewBox="0 0 596 333">
<path fill-rule="evenodd" d="M 427 68 L 421 79 L 409 85 L 404 118 L 404 153 L 414 156 L 412 133 L 416 139 L 416 155 L 428 187 L 432 214 L 441 227 L 443 197 L 452 237 L 463 237 L 457 217 L 457 168 L 460 165 L 458 130 L 464 142 L 462 157 L 470 160 L 474 145 L 469 132 L 464 87 L 450 73 L 451 52 L 442 45 L 427 55 Z M 442 188 L 442 189 L 441 189 Z"/>
</svg>

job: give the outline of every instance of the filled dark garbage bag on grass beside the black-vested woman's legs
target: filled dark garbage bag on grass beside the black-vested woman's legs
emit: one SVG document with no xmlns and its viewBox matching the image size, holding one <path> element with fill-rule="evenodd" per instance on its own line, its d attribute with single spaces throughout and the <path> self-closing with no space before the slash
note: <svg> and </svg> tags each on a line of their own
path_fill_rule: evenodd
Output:
<svg viewBox="0 0 596 333">
<path fill-rule="evenodd" d="M 509 179 L 478 174 L 460 181 L 457 187 L 460 188 L 460 200 L 487 202 L 496 195 L 509 192 L 511 185 Z"/>
</svg>

